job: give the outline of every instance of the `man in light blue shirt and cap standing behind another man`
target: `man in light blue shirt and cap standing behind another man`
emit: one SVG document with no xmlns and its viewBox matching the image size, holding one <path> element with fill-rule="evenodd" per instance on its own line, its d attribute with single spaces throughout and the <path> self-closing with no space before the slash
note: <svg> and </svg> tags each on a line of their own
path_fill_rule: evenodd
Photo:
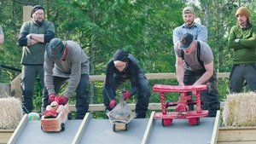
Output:
<svg viewBox="0 0 256 144">
<path fill-rule="evenodd" d="M 207 42 L 207 27 L 195 22 L 195 11 L 192 7 L 183 9 L 183 21 L 184 24 L 182 26 L 178 26 L 173 30 L 173 44 L 177 43 L 185 33 L 192 34 L 195 40 Z"/>
</svg>

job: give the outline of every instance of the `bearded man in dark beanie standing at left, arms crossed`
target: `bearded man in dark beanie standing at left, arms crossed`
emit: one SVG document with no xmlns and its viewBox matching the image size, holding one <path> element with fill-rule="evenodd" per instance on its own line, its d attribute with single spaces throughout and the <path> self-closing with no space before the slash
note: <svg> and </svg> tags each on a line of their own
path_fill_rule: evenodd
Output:
<svg viewBox="0 0 256 144">
<path fill-rule="evenodd" d="M 44 20 L 44 8 L 41 5 L 32 8 L 31 17 L 32 20 L 26 21 L 21 26 L 19 36 L 19 45 L 23 48 L 20 62 L 22 103 L 23 111 L 26 113 L 33 110 L 34 83 L 38 76 L 41 87 L 44 88 L 45 45 L 55 37 L 55 26 L 52 22 Z"/>
</svg>

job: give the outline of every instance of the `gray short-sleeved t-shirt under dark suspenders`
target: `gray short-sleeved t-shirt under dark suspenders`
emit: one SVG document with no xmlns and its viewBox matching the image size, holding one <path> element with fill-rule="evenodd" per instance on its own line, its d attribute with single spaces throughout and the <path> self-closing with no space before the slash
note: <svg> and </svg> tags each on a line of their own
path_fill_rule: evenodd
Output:
<svg viewBox="0 0 256 144">
<path fill-rule="evenodd" d="M 202 42 L 202 41 L 199 41 L 199 42 L 201 43 L 200 60 L 204 63 L 204 65 L 207 65 L 210 62 L 212 62 L 212 60 L 213 60 L 212 49 L 210 48 L 210 46 L 207 43 Z M 177 49 L 177 48 L 178 48 L 178 43 L 175 44 L 175 46 L 174 46 L 175 54 L 177 55 L 177 57 L 182 57 L 181 50 Z M 196 48 L 197 48 L 197 43 L 196 43 Z M 184 54 L 184 60 L 189 65 L 189 66 L 187 66 L 184 62 L 185 69 L 189 69 L 191 71 L 197 71 L 197 70 L 201 70 L 204 68 L 203 66 L 201 66 L 201 64 L 199 63 L 199 61 L 197 59 L 197 49 L 195 49 L 195 51 L 192 52 L 190 55 Z"/>
</svg>

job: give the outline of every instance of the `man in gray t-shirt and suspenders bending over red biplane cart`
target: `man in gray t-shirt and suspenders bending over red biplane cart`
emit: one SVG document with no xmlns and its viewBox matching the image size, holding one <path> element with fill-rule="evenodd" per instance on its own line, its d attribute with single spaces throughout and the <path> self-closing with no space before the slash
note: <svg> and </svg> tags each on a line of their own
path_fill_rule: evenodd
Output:
<svg viewBox="0 0 256 144">
<path fill-rule="evenodd" d="M 202 91 L 201 95 L 206 99 L 208 116 L 215 117 L 219 109 L 219 101 L 212 49 L 207 43 L 194 40 L 190 33 L 186 33 L 175 44 L 174 50 L 178 84 L 181 86 L 207 84 L 207 91 Z"/>
</svg>

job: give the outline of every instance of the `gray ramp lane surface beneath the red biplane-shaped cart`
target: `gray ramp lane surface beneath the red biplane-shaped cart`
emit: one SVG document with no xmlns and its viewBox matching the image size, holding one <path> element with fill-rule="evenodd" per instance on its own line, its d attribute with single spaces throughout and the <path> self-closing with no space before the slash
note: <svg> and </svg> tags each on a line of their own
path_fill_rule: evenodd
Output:
<svg viewBox="0 0 256 144">
<path fill-rule="evenodd" d="M 215 118 L 200 118 L 200 125 L 189 125 L 188 119 L 173 119 L 163 127 L 161 119 L 154 120 L 148 144 L 210 144 Z"/>
</svg>

